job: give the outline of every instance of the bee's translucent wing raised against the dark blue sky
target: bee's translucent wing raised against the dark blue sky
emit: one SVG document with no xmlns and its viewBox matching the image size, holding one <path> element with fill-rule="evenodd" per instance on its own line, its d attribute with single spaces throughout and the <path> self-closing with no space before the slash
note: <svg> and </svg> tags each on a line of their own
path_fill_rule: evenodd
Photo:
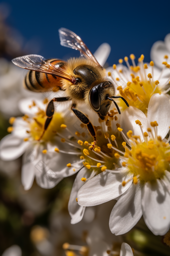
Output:
<svg viewBox="0 0 170 256">
<path fill-rule="evenodd" d="M 92 55 L 90 50 L 86 47 L 84 42 L 78 37 L 75 33 L 68 29 L 60 28 L 59 39 L 60 44 L 65 47 L 69 47 L 75 50 L 80 51 L 80 54 L 85 58 L 93 61 L 96 65 L 100 66 L 95 57 Z"/>
</svg>

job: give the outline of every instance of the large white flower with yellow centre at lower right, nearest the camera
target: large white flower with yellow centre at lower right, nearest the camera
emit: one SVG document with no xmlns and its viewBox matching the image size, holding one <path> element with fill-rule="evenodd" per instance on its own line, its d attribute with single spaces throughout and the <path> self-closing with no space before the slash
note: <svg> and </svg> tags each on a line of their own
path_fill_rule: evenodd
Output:
<svg viewBox="0 0 170 256">
<path fill-rule="evenodd" d="M 101 204 L 120 196 L 109 220 L 110 230 L 116 235 L 129 231 L 142 214 L 155 235 L 163 235 L 169 229 L 170 150 L 169 139 L 162 140 L 169 131 L 169 104 L 165 95 L 154 94 L 147 118 L 140 110 L 133 112 L 130 107 L 128 118 L 117 129 L 131 149 L 123 143 L 125 152 L 119 151 L 110 145 L 109 138 L 107 145 L 118 151 L 114 156 L 121 160 L 122 167 L 111 170 L 106 163 L 105 172 L 87 181 L 78 191 L 77 201 L 81 206 Z M 131 128 L 134 134 L 127 132 L 127 139 L 123 131 Z"/>
</svg>

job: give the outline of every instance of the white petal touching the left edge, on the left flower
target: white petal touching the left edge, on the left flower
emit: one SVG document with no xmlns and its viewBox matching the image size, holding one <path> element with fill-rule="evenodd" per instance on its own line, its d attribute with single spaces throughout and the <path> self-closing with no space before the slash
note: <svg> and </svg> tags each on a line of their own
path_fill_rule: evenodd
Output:
<svg viewBox="0 0 170 256">
<path fill-rule="evenodd" d="M 29 144 L 30 142 L 9 134 L 0 142 L 0 158 L 4 161 L 15 160 L 25 152 Z"/>
</svg>

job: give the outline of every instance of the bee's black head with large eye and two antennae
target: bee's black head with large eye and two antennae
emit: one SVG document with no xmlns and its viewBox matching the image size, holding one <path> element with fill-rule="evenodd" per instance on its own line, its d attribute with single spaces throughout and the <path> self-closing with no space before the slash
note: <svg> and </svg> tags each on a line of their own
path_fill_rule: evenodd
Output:
<svg viewBox="0 0 170 256">
<path fill-rule="evenodd" d="M 115 94 L 115 88 L 114 85 L 110 81 L 103 81 L 100 82 L 97 85 L 94 85 L 90 92 L 89 92 L 89 103 L 91 107 L 96 111 L 99 115 L 99 117 L 103 120 L 104 116 L 107 114 L 111 101 L 114 102 L 118 113 L 120 114 L 119 107 L 117 106 L 116 102 L 113 100 L 113 98 L 122 98 L 121 96 L 114 96 Z M 122 98 L 126 105 L 128 106 L 128 103 L 124 98 Z"/>
</svg>

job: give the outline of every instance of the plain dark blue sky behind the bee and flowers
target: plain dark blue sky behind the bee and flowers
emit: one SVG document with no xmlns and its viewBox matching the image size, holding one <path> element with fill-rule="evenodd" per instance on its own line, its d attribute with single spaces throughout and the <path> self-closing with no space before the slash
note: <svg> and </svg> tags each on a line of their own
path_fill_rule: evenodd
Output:
<svg viewBox="0 0 170 256">
<path fill-rule="evenodd" d="M 60 46 L 58 29 L 72 30 L 91 52 L 107 42 L 111 46 L 108 63 L 133 53 L 144 54 L 149 61 L 152 44 L 170 33 L 170 1 L 13 1 L 7 21 L 26 40 L 36 39 L 39 51 L 31 53 L 45 58 L 79 56 Z"/>
</svg>

